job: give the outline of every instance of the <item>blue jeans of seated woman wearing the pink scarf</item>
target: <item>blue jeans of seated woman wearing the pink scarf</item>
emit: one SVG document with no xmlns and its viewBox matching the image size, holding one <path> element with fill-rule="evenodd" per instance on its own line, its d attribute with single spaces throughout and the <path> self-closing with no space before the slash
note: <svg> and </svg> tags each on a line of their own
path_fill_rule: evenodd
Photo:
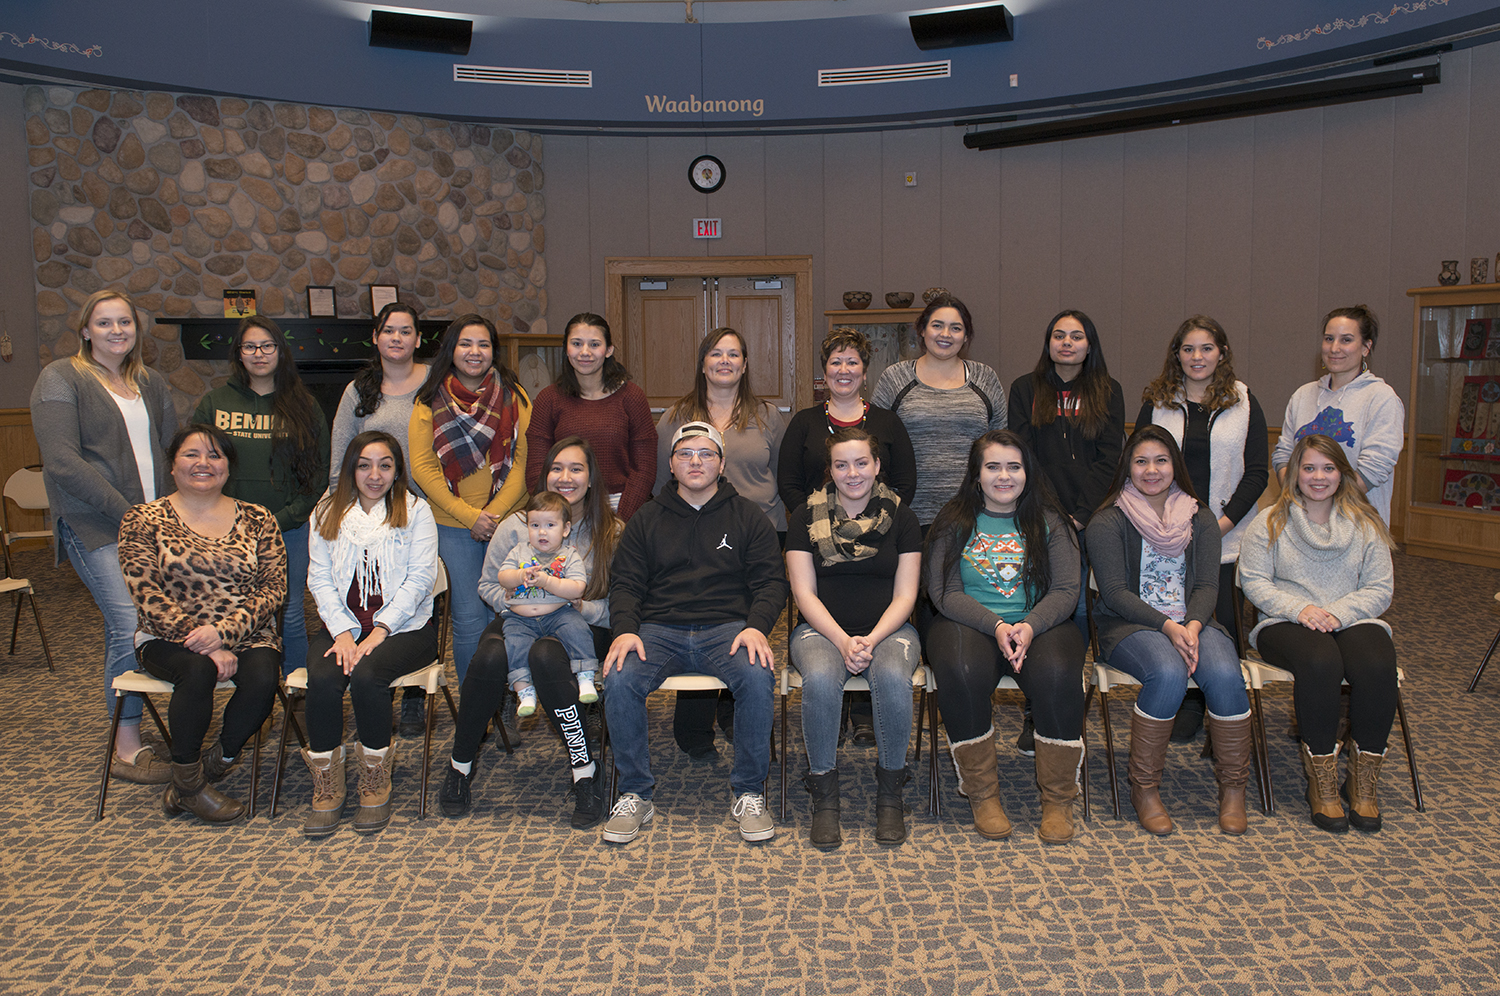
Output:
<svg viewBox="0 0 1500 996">
<path fill-rule="evenodd" d="M 1110 668 L 1124 670 L 1140 681 L 1136 708 L 1150 718 L 1170 720 L 1182 705 L 1188 690 L 1188 664 L 1166 633 L 1137 630 L 1110 654 Z M 1221 718 L 1236 718 L 1250 712 L 1245 675 L 1239 669 L 1234 640 L 1212 626 L 1198 633 L 1198 666 L 1192 680 L 1203 688 L 1209 712 Z"/>
</svg>

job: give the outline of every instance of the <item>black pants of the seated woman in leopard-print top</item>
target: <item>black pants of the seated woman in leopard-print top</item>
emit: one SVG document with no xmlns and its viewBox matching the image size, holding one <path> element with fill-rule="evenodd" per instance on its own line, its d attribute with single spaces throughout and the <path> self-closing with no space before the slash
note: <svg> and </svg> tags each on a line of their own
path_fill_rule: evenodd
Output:
<svg viewBox="0 0 1500 996">
<path fill-rule="evenodd" d="M 202 754 L 202 738 L 208 735 L 208 723 L 213 722 L 213 687 L 219 684 L 219 669 L 204 654 L 170 640 L 150 640 L 135 654 L 147 672 L 172 682 L 172 702 L 166 708 L 172 760 L 180 765 L 194 764 Z M 280 681 L 280 651 L 252 646 L 237 657 L 240 663 L 231 678 L 234 694 L 224 706 L 219 729 L 225 758 L 237 756 L 272 714 Z"/>
</svg>

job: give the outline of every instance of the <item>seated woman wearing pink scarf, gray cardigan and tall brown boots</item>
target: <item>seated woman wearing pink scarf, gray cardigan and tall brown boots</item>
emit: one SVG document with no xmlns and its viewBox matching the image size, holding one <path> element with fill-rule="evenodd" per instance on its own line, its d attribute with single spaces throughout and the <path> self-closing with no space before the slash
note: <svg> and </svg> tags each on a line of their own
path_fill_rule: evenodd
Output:
<svg viewBox="0 0 1500 996">
<path fill-rule="evenodd" d="M 1125 442 L 1114 484 L 1084 536 L 1098 582 L 1100 651 L 1142 684 L 1130 724 L 1130 801 L 1140 825 L 1170 834 L 1161 770 L 1188 678 L 1208 699 L 1220 783 L 1220 830 L 1246 828 L 1250 699 L 1239 654 L 1214 621 L 1218 516 L 1198 502 L 1176 440 L 1142 426 Z"/>
</svg>

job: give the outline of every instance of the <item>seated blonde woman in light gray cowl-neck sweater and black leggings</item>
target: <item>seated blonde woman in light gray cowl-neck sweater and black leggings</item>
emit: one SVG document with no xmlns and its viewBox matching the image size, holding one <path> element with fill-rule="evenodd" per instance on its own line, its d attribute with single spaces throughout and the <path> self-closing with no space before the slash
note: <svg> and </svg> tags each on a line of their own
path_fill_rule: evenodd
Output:
<svg viewBox="0 0 1500 996">
<path fill-rule="evenodd" d="M 1350 824 L 1374 832 L 1380 762 L 1396 711 L 1396 651 L 1380 618 L 1390 606 L 1390 534 L 1344 447 L 1329 436 L 1298 440 L 1287 468 L 1276 504 L 1256 516 L 1240 543 L 1240 586 L 1262 616 L 1250 642 L 1268 663 L 1296 675 L 1312 824 L 1335 834 Z M 1340 788 L 1344 681 L 1348 777 Z"/>
</svg>

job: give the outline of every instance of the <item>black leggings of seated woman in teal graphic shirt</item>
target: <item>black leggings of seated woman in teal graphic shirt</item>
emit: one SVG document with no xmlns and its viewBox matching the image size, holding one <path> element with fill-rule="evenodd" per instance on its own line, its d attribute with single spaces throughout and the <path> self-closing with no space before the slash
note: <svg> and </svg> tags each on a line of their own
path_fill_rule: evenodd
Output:
<svg viewBox="0 0 1500 996">
<path fill-rule="evenodd" d="M 1018 672 L 1011 670 L 993 636 L 940 615 L 927 630 L 926 650 L 951 742 L 984 736 L 990 729 L 990 696 L 1000 678 L 1016 678 L 1030 699 L 1038 736 L 1076 741 L 1083 735 L 1084 642 L 1072 620 L 1038 633 Z"/>
</svg>

